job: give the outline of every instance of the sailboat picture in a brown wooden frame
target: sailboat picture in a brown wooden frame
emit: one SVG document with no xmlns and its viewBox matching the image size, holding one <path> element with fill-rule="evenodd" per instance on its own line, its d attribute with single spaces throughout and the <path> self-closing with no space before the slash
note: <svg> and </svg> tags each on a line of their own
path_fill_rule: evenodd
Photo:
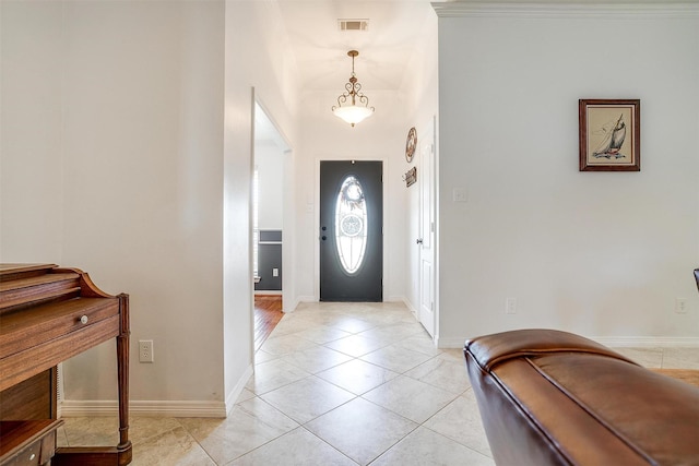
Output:
<svg viewBox="0 0 699 466">
<path fill-rule="evenodd" d="M 580 99 L 580 171 L 641 170 L 641 100 Z"/>
</svg>

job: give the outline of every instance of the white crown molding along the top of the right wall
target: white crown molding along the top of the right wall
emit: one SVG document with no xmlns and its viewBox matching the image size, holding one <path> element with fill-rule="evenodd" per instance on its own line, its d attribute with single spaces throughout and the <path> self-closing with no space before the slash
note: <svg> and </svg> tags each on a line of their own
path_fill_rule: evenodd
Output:
<svg viewBox="0 0 699 466">
<path fill-rule="evenodd" d="M 433 2 L 439 17 L 699 17 L 699 1 L 688 2 Z"/>
</svg>

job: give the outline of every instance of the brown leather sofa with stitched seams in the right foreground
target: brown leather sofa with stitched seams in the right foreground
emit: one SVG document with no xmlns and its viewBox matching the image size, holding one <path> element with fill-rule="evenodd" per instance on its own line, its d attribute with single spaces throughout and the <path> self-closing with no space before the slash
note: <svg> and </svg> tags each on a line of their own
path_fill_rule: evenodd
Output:
<svg viewBox="0 0 699 466">
<path fill-rule="evenodd" d="M 466 342 L 500 466 L 699 465 L 699 389 L 590 339 L 520 330 Z"/>
</svg>

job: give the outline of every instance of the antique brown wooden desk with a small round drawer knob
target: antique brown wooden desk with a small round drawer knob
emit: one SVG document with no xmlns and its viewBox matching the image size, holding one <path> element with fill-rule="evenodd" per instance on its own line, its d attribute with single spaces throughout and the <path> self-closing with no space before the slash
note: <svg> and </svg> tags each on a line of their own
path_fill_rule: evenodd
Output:
<svg viewBox="0 0 699 466">
<path fill-rule="evenodd" d="M 57 447 L 57 365 L 117 340 L 119 444 Z M 129 296 L 52 264 L 0 264 L 0 466 L 131 463 Z"/>
</svg>

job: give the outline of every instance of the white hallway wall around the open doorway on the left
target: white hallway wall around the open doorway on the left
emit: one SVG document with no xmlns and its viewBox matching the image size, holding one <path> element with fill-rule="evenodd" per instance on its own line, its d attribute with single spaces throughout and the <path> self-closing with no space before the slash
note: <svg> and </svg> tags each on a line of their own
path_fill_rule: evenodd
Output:
<svg viewBox="0 0 699 466">
<path fill-rule="evenodd" d="M 224 355 L 228 402 L 241 389 L 252 362 L 252 267 L 250 193 L 256 99 L 296 150 L 297 70 L 282 33 L 275 2 L 226 0 L 224 141 Z M 286 163 L 294 163 L 294 153 Z M 285 188 L 284 266 L 295 270 L 294 184 Z M 294 274 L 284 274 L 284 307 L 294 301 Z M 241 338 L 240 333 L 246 332 Z M 228 363 L 230 361 L 230 363 Z"/>
</svg>

